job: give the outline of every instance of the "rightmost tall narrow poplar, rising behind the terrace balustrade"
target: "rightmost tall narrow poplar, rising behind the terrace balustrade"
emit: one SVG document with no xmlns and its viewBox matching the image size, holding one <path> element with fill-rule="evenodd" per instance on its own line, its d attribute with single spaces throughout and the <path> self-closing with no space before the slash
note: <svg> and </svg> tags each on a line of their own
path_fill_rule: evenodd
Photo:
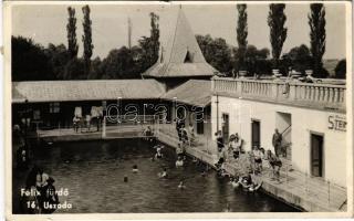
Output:
<svg viewBox="0 0 354 221">
<path fill-rule="evenodd" d="M 310 4 L 309 14 L 311 54 L 313 56 L 313 75 L 326 77 L 323 72 L 322 56 L 325 52 L 325 10 L 322 3 Z"/>
</svg>

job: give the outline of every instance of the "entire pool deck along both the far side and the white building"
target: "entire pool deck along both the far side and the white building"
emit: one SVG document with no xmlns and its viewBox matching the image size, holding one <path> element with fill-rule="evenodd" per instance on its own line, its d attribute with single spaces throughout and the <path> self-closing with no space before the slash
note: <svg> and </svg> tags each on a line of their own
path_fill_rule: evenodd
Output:
<svg viewBox="0 0 354 221">
<path fill-rule="evenodd" d="M 144 137 L 143 129 L 147 125 L 110 126 L 106 133 L 85 131 L 75 133 L 72 128 L 39 130 L 38 138 L 45 141 L 73 141 L 93 139 L 137 138 Z M 179 140 L 173 125 L 154 125 L 155 134 L 159 141 L 176 148 Z M 187 147 L 188 155 L 205 161 L 214 167 L 218 160 L 215 141 L 208 137 L 198 136 L 196 144 Z M 263 170 L 259 179 L 263 181 L 262 191 L 292 207 L 309 212 L 345 212 L 346 188 L 329 183 L 323 179 L 309 177 L 308 175 L 291 168 L 291 162 L 283 159 L 280 182 L 272 180 L 272 171 L 263 160 Z M 240 159 L 227 159 L 226 170 L 230 175 L 243 173 L 249 167 L 247 155 Z"/>
</svg>

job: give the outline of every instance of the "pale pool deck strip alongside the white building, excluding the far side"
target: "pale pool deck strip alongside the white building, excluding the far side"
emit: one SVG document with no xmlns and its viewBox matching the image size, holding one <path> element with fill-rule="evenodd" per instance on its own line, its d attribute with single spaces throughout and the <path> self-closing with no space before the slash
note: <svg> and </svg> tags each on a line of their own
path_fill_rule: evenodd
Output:
<svg viewBox="0 0 354 221">
<path fill-rule="evenodd" d="M 160 128 L 157 134 L 162 143 L 171 147 L 177 147 L 179 140 L 175 134 L 166 128 Z M 218 156 L 216 152 L 210 152 L 210 149 L 216 149 L 212 143 L 198 145 L 197 147 L 187 147 L 188 155 L 194 156 L 210 166 L 217 162 Z M 266 160 L 264 160 L 266 161 Z M 272 171 L 267 164 L 263 165 L 263 171 L 258 178 L 263 181 L 262 190 L 303 211 L 309 212 L 345 212 L 346 211 L 346 189 L 329 185 L 325 180 L 309 177 L 305 173 L 291 169 L 289 161 L 283 161 L 281 170 L 281 180 L 272 180 Z M 226 170 L 230 175 L 240 175 L 244 171 L 247 164 L 247 155 L 240 157 L 239 161 L 227 160 Z"/>
</svg>

